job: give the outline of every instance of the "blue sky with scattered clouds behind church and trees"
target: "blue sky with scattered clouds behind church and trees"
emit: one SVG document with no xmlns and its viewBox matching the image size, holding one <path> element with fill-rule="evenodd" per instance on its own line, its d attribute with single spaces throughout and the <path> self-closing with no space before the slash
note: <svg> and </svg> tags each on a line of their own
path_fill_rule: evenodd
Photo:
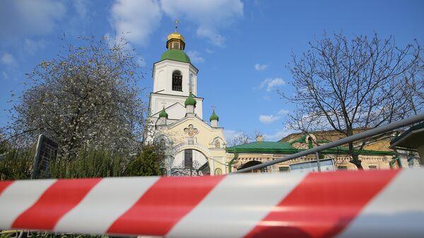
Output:
<svg viewBox="0 0 424 238">
<path fill-rule="evenodd" d="M 293 132 L 286 125 L 295 105 L 277 93 L 293 92 L 292 54 L 305 52 L 324 31 L 348 38 L 377 32 L 393 35 L 399 47 L 423 45 L 423 10 L 420 0 L 0 1 L 0 127 L 11 99 L 25 90 L 25 73 L 57 56 L 63 37 L 78 45 L 78 36 L 124 33 L 141 62 L 139 85 L 148 100 L 153 63 L 179 19 L 185 52 L 199 69 L 204 119 L 215 106 L 227 140 L 237 131 L 261 131 L 266 141 L 278 141 Z"/>
</svg>

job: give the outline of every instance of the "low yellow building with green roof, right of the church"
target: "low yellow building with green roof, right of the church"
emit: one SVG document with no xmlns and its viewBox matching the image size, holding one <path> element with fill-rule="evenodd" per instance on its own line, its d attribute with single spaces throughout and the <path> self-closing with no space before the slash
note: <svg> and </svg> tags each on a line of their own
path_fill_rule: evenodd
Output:
<svg viewBox="0 0 424 238">
<path fill-rule="evenodd" d="M 336 141 L 343 138 L 343 135 L 335 131 L 318 131 L 314 133 L 292 133 L 278 142 L 257 141 L 244 145 L 236 145 L 227 148 L 228 161 L 231 169 L 237 170 L 260 165 L 264 162 L 276 160 L 287 155 L 298 153 L 330 141 Z M 359 159 L 364 169 L 394 169 L 399 167 L 411 167 L 408 157 L 399 156 L 389 148 L 389 139 L 377 140 L 365 145 L 359 153 Z M 331 160 L 334 170 L 338 169 L 357 169 L 355 165 L 349 162 L 348 147 L 338 146 L 319 153 L 319 160 Z M 293 165 L 302 165 L 317 161 L 316 155 L 307 155 L 286 162 L 280 162 L 276 165 L 256 170 L 254 172 L 290 172 Z M 416 163 L 418 164 L 418 163 Z M 324 167 L 331 169 L 331 167 Z M 316 169 L 316 168 L 315 168 Z M 312 169 L 314 171 L 314 169 Z"/>
</svg>

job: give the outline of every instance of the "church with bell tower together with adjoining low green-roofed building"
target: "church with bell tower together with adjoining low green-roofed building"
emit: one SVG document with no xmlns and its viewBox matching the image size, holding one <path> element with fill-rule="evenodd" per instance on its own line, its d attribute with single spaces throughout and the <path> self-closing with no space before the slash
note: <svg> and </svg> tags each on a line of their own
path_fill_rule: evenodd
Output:
<svg viewBox="0 0 424 238">
<path fill-rule="evenodd" d="M 211 110 L 208 121 L 204 120 L 204 98 L 197 93 L 201 86 L 199 70 L 184 53 L 185 46 L 184 37 L 172 32 L 167 36 L 167 50 L 153 64 L 146 143 L 163 145 L 168 176 L 226 174 L 343 138 L 336 131 L 292 133 L 278 142 L 263 141 L 259 136 L 255 142 L 226 148 L 223 127 L 218 125 L 215 110 Z M 365 145 L 359 153 L 364 169 L 411 167 L 409 158 L 394 153 L 389 142 L 377 140 Z M 319 157 L 331 161 L 331 167 L 324 169 L 356 169 L 349 162 L 346 146 L 324 150 Z M 316 155 L 307 155 L 254 172 L 289 172 L 294 165 L 301 167 L 316 160 Z"/>
</svg>

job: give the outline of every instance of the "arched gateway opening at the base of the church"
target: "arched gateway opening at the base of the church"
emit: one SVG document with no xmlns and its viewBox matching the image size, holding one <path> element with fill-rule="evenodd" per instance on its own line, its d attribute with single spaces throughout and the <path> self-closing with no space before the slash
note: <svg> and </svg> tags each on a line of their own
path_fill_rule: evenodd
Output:
<svg viewBox="0 0 424 238">
<path fill-rule="evenodd" d="M 172 176 L 204 176 L 210 174 L 208 158 L 199 150 L 182 150 L 175 155 L 172 162 Z"/>
</svg>

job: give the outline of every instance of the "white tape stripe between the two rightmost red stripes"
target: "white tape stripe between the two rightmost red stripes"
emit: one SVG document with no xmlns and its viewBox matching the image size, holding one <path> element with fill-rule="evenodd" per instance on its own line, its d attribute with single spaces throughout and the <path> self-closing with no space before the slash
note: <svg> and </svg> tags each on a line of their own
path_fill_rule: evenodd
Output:
<svg viewBox="0 0 424 238">
<path fill-rule="evenodd" d="M 243 237 L 305 177 L 229 175 L 172 228 L 168 237 Z M 242 209 L 240 209 L 242 208 Z"/>
</svg>

